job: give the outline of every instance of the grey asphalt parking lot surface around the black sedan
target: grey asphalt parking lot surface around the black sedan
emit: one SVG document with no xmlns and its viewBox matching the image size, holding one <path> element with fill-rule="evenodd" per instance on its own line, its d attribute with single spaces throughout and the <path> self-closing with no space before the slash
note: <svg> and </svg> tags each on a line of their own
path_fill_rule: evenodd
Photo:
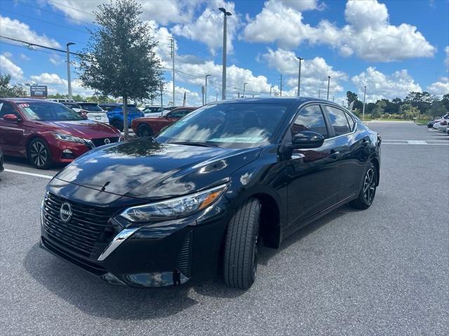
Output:
<svg viewBox="0 0 449 336">
<path fill-rule="evenodd" d="M 6 158 L 0 176 L 3 335 L 448 335 L 449 137 L 379 122 L 380 187 L 264 248 L 250 290 L 112 286 L 42 251 L 45 176 Z"/>
</svg>

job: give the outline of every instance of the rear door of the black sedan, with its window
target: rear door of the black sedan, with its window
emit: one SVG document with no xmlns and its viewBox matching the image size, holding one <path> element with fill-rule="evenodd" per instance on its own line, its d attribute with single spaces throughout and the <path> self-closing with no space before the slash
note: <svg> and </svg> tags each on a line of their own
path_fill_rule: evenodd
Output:
<svg viewBox="0 0 449 336">
<path fill-rule="evenodd" d="M 340 155 L 339 201 L 353 196 L 360 186 L 360 176 L 368 158 L 370 138 L 356 132 L 352 116 L 337 106 L 324 106 L 328 123 L 335 134 L 335 151 Z"/>
</svg>

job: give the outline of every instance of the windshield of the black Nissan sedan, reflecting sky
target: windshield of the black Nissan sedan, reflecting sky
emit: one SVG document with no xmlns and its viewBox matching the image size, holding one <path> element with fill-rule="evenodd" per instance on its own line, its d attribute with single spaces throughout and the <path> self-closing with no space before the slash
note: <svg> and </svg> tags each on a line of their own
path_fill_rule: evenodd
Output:
<svg viewBox="0 0 449 336">
<path fill-rule="evenodd" d="M 161 132 L 157 141 L 236 148 L 270 144 L 287 109 L 282 104 L 207 105 Z"/>
</svg>

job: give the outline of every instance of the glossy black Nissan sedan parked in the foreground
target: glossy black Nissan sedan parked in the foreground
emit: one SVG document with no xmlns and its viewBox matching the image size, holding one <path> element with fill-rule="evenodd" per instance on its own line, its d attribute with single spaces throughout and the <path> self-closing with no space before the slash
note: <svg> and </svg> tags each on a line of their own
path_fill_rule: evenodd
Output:
<svg viewBox="0 0 449 336">
<path fill-rule="evenodd" d="M 41 246 L 129 286 L 216 272 L 249 288 L 278 247 L 347 202 L 373 203 L 380 137 L 319 99 L 210 103 L 147 137 L 96 148 L 48 183 Z"/>
</svg>

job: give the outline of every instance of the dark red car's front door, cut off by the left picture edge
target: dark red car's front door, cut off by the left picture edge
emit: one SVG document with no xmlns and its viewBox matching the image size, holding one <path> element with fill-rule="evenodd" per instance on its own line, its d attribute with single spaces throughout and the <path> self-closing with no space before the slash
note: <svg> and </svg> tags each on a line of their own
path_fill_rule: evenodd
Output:
<svg viewBox="0 0 449 336">
<path fill-rule="evenodd" d="M 10 102 L 0 102 L 0 146 L 6 154 L 18 155 L 23 142 L 22 116 Z M 20 121 L 6 121 L 6 114 L 15 114 Z"/>
</svg>

